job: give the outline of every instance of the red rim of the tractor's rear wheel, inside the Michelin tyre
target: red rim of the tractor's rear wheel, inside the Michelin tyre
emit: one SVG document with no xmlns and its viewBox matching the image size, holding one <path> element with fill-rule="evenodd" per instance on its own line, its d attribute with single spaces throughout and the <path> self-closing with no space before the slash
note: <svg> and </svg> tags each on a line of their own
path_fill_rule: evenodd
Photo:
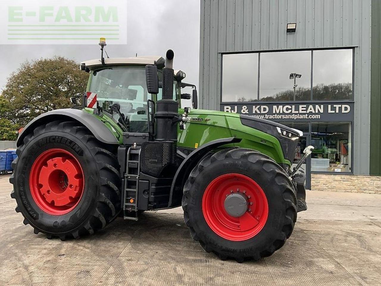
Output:
<svg viewBox="0 0 381 286">
<path fill-rule="evenodd" d="M 64 149 L 49 149 L 34 161 L 29 174 L 32 197 L 51 215 L 73 210 L 83 194 L 83 170 L 77 158 Z"/>
</svg>

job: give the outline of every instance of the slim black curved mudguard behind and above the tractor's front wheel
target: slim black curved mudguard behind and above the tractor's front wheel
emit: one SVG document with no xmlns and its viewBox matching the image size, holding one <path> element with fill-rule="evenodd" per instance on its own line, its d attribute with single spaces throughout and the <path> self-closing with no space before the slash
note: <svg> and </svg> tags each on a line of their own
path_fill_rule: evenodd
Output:
<svg viewBox="0 0 381 286">
<path fill-rule="evenodd" d="M 217 139 L 210 141 L 192 151 L 192 153 L 189 154 L 184 159 L 184 161 L 182 161 L 179 168 L 177 169 L 176 174 L 174 175 L 168 207 L 175 207 L 181 205 L 182 187 L 184 186 L 184 183 L 186 182 L 192 169 L 195 167 L 195 165 L 197 165 L 198 162 L 200 162 L 202 157 L 204 157 L 211 150 L 216 149 L 219 146 L 232 143 L 239 143 L 241 140 L 241 138 L 237 137 Z"/>
</svg>

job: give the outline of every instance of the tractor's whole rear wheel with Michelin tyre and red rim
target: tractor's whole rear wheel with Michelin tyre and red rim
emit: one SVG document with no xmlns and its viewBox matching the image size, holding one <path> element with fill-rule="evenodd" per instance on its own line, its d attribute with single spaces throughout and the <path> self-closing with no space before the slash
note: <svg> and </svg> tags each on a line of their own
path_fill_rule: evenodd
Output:
<svg viewBox="0 0 381 286">
<path fill-rule="evenodd" d="M 76 122 L 34 129 L 13 161 L 16 212 L 48 238 L 79 238 L 105 227 L 120 210 L 120 175 L 113 147 Z"/>
</svg>

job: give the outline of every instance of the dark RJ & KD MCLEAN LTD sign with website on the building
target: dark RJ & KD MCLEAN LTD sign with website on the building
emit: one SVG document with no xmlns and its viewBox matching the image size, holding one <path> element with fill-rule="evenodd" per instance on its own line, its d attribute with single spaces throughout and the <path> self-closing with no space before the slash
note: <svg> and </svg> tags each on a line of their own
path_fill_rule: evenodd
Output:
<svg viewBox="0 0 381 286">
<path fill-rule="evenodd" d="M 221 103 L 220 110 L 273 121 L 353 121 L 354 103 Z"/>
</svg>

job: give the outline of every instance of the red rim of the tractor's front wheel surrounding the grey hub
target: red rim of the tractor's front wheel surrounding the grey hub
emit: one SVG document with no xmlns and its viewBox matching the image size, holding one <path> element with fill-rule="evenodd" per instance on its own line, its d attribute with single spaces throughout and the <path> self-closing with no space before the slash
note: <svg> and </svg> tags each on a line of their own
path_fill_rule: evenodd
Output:
<svg viewBox="0 0 381 286">
<path fill-rule="evenodd" d="M 248 209 L 240 217 L 233 217 L 226 212 L 224 202 L 237 190 L 247 196 Z M 241 174 L 225 174 L 207 186 L 202 197 L 202 212 L 217 235 L 232 241 L 243 241 L 262 230 L 269 206 L 264 191 L 254 180 Z"/>
</svg>

